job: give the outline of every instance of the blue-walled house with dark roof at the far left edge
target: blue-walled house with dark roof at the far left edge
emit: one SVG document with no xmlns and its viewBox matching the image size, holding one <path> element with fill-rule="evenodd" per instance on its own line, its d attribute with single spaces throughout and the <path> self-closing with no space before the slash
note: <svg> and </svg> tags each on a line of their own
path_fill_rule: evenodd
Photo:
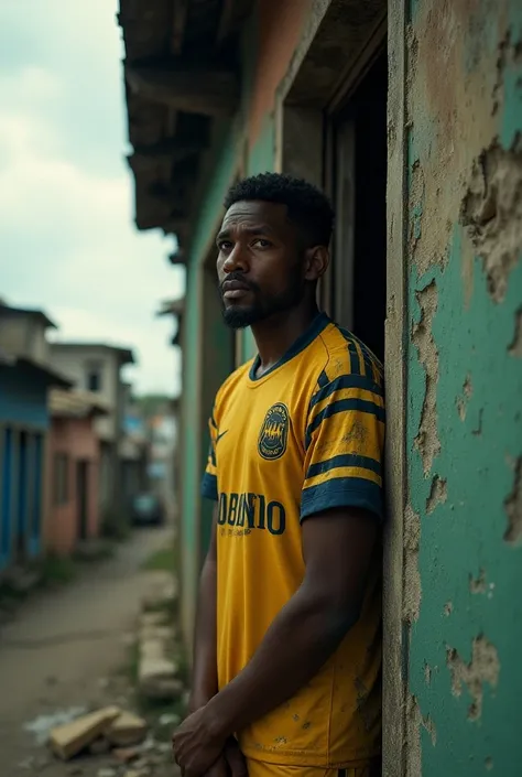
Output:
<svg viewBox="0 0 522 777">
<path fill-rule="evenodd" d="M 70 382 L 46 365 L 40 311 L 0 305 L 0 575 L 42 548 L 47 389 Z"/>
</svg>

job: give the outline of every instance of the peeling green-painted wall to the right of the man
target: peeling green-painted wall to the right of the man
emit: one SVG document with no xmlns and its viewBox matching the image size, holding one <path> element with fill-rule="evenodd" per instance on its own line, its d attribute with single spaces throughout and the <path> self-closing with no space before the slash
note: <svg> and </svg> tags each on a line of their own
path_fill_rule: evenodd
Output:
<svg viewBox="0 0 522 777">
<path fill-rule="evenodd" d="M 520 774 L 522 6 L 406 29 L 406 775 Z"/>
</svg>

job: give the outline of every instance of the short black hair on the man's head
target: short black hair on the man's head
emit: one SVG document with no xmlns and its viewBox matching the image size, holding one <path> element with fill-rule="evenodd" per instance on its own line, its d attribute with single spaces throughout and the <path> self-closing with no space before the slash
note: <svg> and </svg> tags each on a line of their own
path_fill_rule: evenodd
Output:
<svg viewBox="0 0 522 777">
<path fill-rule="evenodd" d="M 300 228 L 308 246 L 328 246 L 334 208 L 313 184 L 281 173 L 252 175 L 233 184 L 225 197 L 225 207 L 228 211 L 235 203 L 254 199 L 286 205 L 289 219 Z"/>
</svg>

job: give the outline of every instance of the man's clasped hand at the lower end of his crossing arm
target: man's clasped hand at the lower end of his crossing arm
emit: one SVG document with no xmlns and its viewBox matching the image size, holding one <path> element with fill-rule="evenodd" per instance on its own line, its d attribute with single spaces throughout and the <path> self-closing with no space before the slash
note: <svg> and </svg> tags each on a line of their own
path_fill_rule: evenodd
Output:
<svg viewBox="0 0 522 777">
<path fill-rule="evenodd" d="M 214 729 L 208 711 L 202 706 L 172 735 L 174 759 L 183 777 L 203 777 L 221 755 L 227 737 Z"/>
</svg>

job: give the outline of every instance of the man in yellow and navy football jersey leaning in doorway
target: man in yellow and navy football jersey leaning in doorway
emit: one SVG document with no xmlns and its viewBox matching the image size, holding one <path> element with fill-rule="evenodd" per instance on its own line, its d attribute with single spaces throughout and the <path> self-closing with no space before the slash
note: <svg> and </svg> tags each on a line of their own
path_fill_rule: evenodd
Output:
<svg viewBox="0 0 522 777">
<path fill-rule="evenodd" d="M 184 777 L 369 777 L 381 736 L 382 367 L 316 303 L 334 214 L 284 175 L 229 192 L 225 321 L 258 356 L 219 389 L 203 494 Z M 236 738 L 237 737 L 237 738 Z"/>
</svg>

